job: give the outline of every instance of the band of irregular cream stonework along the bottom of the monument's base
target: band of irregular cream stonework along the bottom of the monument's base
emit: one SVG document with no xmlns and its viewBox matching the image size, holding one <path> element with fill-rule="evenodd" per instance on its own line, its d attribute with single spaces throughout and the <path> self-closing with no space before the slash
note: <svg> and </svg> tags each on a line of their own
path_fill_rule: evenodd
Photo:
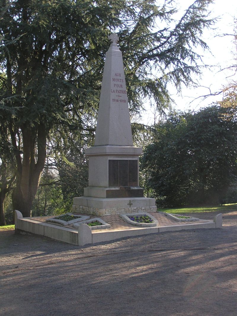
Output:
<svg viewBox="0 0 237 316">
<path fill-rule="evenodd" d="M 73 205 L 72 212 L 80 214 L 89 214 L 96 216 L 106 215 L 118 215 L 122 213 L 141 213 L 141 212 L 152 212 L 156 213 L 157 208 L 155 207 L 127 207 L 124 209 L 97 209 L 89 206 Z"/>
</svg>

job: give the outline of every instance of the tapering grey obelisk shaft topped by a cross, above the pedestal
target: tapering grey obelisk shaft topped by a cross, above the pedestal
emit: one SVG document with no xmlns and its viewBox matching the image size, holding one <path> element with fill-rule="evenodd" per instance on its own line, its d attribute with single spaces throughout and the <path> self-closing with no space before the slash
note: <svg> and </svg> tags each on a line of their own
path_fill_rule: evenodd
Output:
<svg viewBox="0 0 237 316">
<path fill-rule="evenodd" d="M 106 52 L 94 146 L 133 146 L 122 52 L 116 34 L 109 40 L 112 43 Z"/>
</svg>

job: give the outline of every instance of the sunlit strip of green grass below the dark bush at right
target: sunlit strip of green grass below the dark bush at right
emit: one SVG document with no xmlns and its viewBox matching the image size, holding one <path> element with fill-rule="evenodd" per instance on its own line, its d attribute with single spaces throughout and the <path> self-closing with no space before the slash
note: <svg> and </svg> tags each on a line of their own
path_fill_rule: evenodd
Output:
<svg viewBox="0 0 237 316">
<path fill-rule="evenodd" d="M 173 214 L 184 214 L 184 213 L 202 213 L 202 212 L 232 212 L 237 211 L 237 203 L 235 204 L 224 204 L 218 206 L 207 206 L 207 207 L 183 207 L 183 208 L 170 208 L 170 209 L 157 209 L 158 211 Z"/>
</svg>

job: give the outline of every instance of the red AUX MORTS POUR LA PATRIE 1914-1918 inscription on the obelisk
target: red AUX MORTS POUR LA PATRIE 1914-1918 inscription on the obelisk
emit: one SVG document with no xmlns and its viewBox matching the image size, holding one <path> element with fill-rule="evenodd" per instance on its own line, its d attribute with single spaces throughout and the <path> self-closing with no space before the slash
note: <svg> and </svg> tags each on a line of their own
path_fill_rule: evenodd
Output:
<svg viewBox="0 0 237 316">
<path fill-rule="evenodd" d="M 123 98 L 127 94 L 125 81 L 120 77 L 122 77 L 120 72 L 116 72 L 112 77 L 111 93 L 114 94 L 112 102 L 126 103 L 126 99 Z"/>
</svg>

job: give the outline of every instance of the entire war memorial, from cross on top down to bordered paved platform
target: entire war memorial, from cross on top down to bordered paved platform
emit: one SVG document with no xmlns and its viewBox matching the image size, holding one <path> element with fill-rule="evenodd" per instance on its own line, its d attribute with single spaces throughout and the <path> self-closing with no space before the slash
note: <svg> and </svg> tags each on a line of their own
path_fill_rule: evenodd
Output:
<svg viewBox="0 0 237 316">
<path fill-rule="evenodd" d="M 109 40 L 95 142 L 86 149 L 89 185 L 84 196 L 75 197 L 72 212 L 63 215 L 23 218 L 15 210 L 15 232 L 84 246 L 165 231 L 221 228 L 222 214 L 213 221 L 178 218 L 157 212 L 155 199 L 143 196 L 139 186 L 142 149 L 133 146 L 122 53 L 118 36 L 111 34 Z M 136 216 L 147 216 L 147 222 Z"/>
</svg>

